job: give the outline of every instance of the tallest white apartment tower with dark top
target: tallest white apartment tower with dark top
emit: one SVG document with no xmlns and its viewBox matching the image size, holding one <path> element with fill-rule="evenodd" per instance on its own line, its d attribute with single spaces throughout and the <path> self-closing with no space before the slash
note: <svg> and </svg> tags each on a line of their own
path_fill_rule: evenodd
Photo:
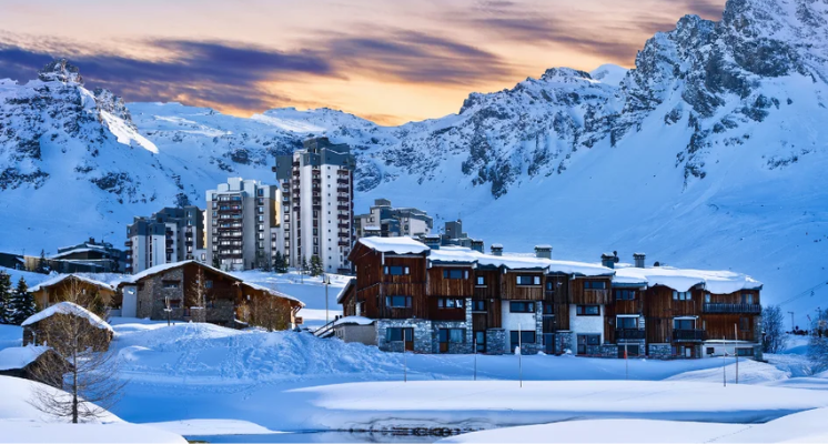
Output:
<svg viewBox="0 0 828 444">
<path fill-rule="evenodd" d="M 291 266 L 316 255 L 325 272 L 350 272 L 354 242 L 353 196 L 356 161 L 347 144 L 309 139 L 291 155 L 276 157 L 282 183 L 284 254 Z"/>
</svg>

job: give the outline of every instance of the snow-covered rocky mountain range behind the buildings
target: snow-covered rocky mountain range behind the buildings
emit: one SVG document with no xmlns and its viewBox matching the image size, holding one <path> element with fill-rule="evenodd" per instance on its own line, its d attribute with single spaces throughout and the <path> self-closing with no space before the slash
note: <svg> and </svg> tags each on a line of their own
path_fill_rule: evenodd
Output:
<svg viewBox="0 0 828 444">
<path fill-rule="evenodd" d="M 648 40 L 635 69 L 549 69 L 394 128 L 124 105 L 58 62 L 0 81 L 0 251 L 121 238 L 132 215 L 203 203 L 228 175 L 272 181 L 274 154 L 326 134 L 357 154 L 357 211 L 384 196 L 460 214 L 506 250 L 739 270 L 782 301 L 826 282 L 827 42 L 825 1 L 730 0 L 719 22 L 687 16 Z M 806 293 L 828 303 L 826 285 Z"/>
</svg>

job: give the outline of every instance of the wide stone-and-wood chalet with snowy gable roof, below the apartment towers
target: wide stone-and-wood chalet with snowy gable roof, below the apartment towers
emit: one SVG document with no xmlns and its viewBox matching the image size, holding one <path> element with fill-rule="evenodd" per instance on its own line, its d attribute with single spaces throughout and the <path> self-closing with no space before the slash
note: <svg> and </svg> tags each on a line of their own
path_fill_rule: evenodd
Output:
<svg viewBox="0 0 828 444">
<path fill-rule="evenodd" d="M 123 316 L 231 327 L 246 326 L 250 320 L 255 324 L 256 316 L 266 314 L 269 327 L 291 329 L 304 306 L 293 296 L 194 260 L 147 269 L 122 281 L 119 289 L 123 293 Z"/>
</svg>

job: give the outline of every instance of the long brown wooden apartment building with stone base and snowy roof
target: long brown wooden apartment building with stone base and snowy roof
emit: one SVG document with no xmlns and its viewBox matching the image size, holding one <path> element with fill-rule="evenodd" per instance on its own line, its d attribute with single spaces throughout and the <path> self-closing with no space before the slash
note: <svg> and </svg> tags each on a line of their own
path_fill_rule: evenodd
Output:
<svg viewBox="0 0 828 444">
<path fill-rule="evenodd" d="M 478 250 L 362 238 L 350 256 L 356 279 L 339 302 L 346 317 L 373 320 L 387 351 L 498 354 L 519 345 L 523 353 L 700 357 L 717 353 L 710 341 L 728 323 L 725 336 L 735 340 L 737 319 L 746 329 L 738 353 L 759 349 L 761 284 L 748 276 L 645 269 L 643 254 L 638 268 L 618 264 L 615 253 L 600 263 L 559 261 L 546 244 L 524 255 L 499 244 Z"/>
</svg>

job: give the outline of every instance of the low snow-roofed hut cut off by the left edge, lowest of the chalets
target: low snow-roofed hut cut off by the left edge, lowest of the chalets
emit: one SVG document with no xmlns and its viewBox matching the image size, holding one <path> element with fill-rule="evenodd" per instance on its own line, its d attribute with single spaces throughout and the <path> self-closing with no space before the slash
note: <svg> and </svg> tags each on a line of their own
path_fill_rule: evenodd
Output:
<svg viewBox="0 0 828 444">
<path fill-rule="evenodd" d="M 51 365 L 53 363 L 62 365 Z M 50 372 L 47 372 L 47 369 Z M 21 377 L 61 389 L 63 374 L 70 370 L 71 364 L 48 346 L 29 345 L 0 350 L 0 376 Z"/>
</svg>

